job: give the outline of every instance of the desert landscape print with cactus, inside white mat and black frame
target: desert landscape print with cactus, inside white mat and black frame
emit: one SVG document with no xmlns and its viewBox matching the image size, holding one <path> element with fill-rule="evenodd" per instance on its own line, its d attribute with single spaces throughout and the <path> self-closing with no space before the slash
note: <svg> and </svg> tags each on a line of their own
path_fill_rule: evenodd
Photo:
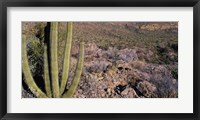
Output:
<svg viewBox="0 0 200 120">
<path fill-rule="evenodd" d="M 59 22 L 54 48 L 49 24 L 22 23 L 23 98 L 178 97 L 177 22 Z"/>
</svg>

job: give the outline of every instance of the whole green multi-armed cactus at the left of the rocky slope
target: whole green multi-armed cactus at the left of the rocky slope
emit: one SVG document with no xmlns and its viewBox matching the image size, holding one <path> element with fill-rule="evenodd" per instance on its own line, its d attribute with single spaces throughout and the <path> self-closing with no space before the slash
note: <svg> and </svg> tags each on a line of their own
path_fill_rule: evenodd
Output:
<svg viewBox="0 0 200 120">
<path fill-rule="evenodd" d="M 72 46 L 72 22 L 67 25 L 67 42 L 65 45 L 65 53 L 63 60 L 62 78 L 59 81 L 58 77 L 58 22 L 50 23 L 50 37 L 49 44 L 44 43 L 44 83 L 45 92 L 43 92 L 35 83 L 31 70 L 28 64 L 28 57 L 26 52 L 26 35 L 22 36 L 22 60 L 23 60 L 23 75 L 25 83 L 28 85 L 31 92 L 38 98 L 68 98 L 72 97 L 77 89 L 80 77 L 82 74 L 84 62 L 84 42 L 80 42 L 80 54 L 77 63 L 75 76 L 69 90 L 66 91 L 67 79 L 69 76 L 70 52 Z M 60 84 L 59 84 L 60 83 Z"/>
</svg>

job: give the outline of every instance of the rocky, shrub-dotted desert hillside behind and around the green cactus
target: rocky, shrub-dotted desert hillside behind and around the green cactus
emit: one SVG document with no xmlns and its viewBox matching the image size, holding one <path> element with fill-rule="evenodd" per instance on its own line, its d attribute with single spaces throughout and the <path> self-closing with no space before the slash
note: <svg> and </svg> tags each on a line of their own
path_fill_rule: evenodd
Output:
<svg viewBox="0 0 200 120">
<path fill-rule="evenodd" d="M 42 39 L 45 24 L 23 23 L 23 32 L 29 32 L 30 38 L 34 38 L 30 43 Z M 60 71 L 65 29 L 66 23 L 60 23 Z M 84 70 L 75 98 L 178 97 L 177 23 L 79 22 L 74 23 L 73 29 L 69 85 L 76 68 L 78 43 L 85 41 Z M 43 88 L 42 70 L 38 70 L 43 64 L 40 45 L 40 42 L 34 43 L 29 61 L 38 85 Z M 23 88 L 23 97 L 34 97 L 25 85 Z"/>
</svg>

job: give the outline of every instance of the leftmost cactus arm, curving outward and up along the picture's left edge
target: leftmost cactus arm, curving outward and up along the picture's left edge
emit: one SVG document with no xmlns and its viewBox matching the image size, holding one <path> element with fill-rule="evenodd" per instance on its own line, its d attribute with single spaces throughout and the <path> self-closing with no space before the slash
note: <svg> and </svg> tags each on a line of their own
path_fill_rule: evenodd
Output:
<svg viewBox="0 0 200 120">
<path fill-rule="evenodd" d="M 26 51 L 26 36 L 22 35 L 22 71 L 25 77 L 25 83 L 28 85 L 31 92 L 38 98 L 47 98 L 46 94 L 36 85 L 31 70 L 28 64 Z"/>
</svg>

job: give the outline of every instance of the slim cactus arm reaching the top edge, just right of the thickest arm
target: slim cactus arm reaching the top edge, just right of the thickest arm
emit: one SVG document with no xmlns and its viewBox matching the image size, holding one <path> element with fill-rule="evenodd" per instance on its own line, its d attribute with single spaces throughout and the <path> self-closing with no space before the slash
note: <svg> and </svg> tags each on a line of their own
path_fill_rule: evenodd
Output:
<svg viewBox="0 0 200 120">
<path fill-rule="evenodd" d="M 67 84 L 67 79 L 69 75 L 69 66 L 70 66 L 71 46 L 72 46 L 72 22 L 69 22 L 67 24 L 67 42 L 65 45 L 65 54 L 63 60 L 63 72 L 60 85 L 60 95 L 63 94 Z"/>
</svg>

